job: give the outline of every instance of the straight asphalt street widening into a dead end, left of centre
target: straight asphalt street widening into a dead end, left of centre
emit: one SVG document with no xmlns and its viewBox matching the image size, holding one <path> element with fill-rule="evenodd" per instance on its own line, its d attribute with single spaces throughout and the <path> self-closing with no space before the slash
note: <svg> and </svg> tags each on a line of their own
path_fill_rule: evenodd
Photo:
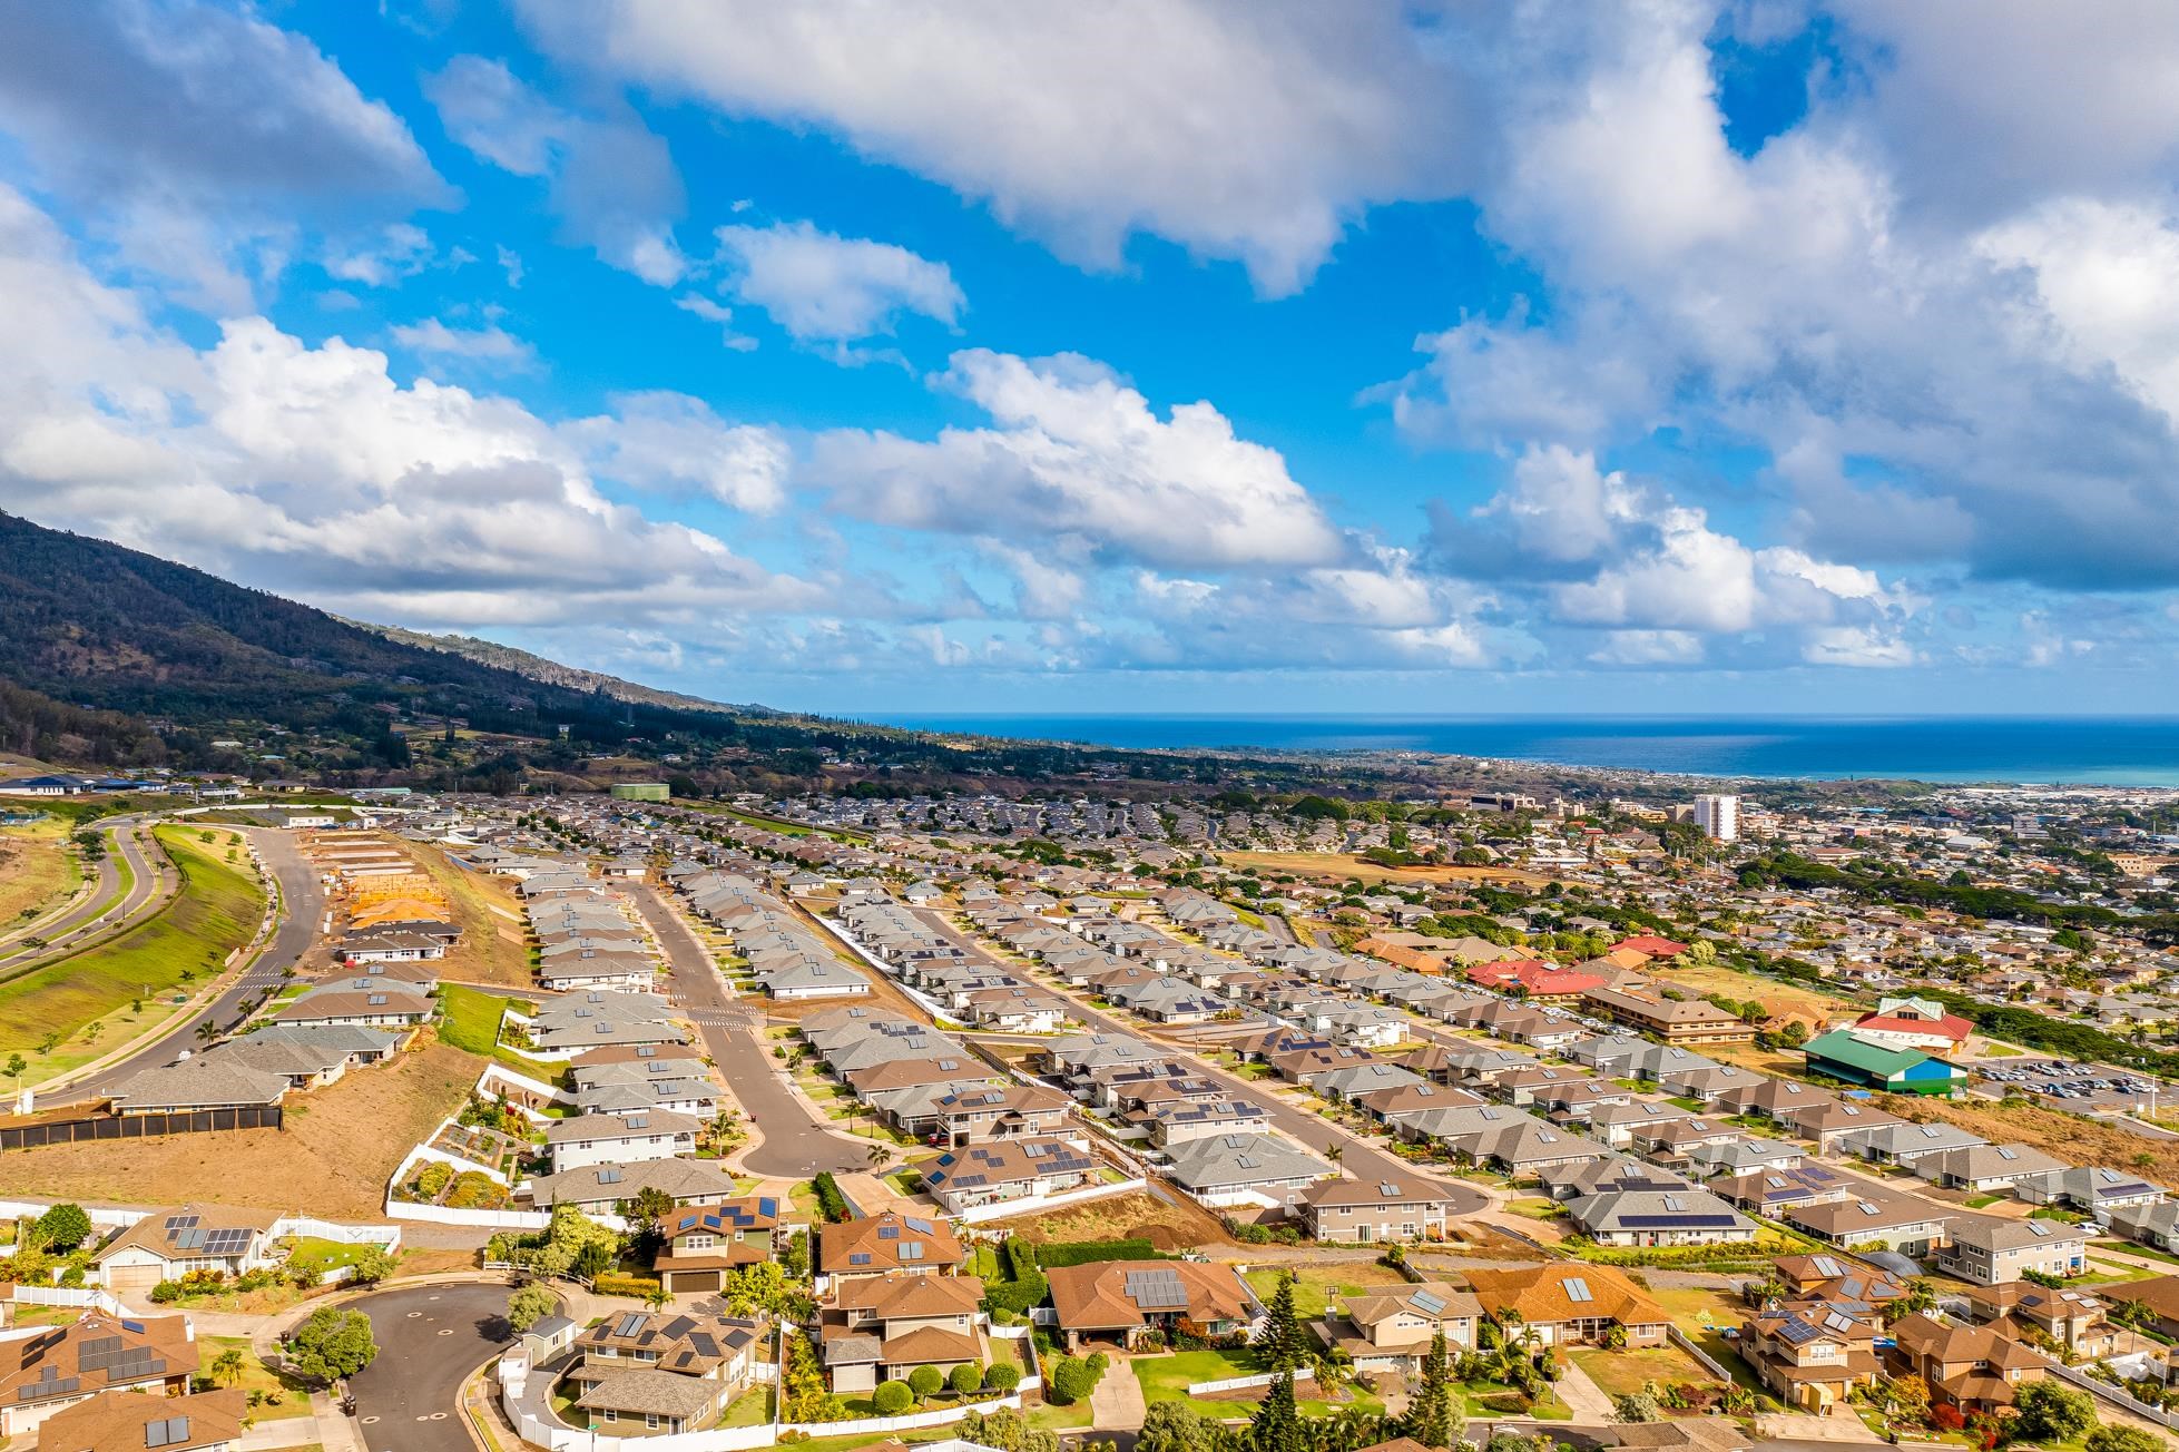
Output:
<svg viewBox="0 0 2179 1452">
<path fill-rule="evenodd" d="M 763 1136 L 763 1142 L 741 1158 L 741 1166 L 752 1175 L 795 1179 L 817 1171 L 867 1169 L 869 1145 L 835 1134 L 830 1121 L 795 1099 L 774 1070 L 763 1012 L 752 1014 L 728 994 L 710 953 L 680 913 L 649 883 L 638 885 L 632 898 L 673 968 L 673 1003 L 689 1014 L 689 1023 L 704 1038 L 704 1049 L 741 1101 L 743 1118 Z"/>
</svg>

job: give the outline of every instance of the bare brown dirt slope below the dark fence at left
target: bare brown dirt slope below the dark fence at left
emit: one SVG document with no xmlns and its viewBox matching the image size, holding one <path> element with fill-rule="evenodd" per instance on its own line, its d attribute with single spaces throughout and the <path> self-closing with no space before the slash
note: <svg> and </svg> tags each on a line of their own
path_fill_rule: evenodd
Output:
<svg viewBox="0 0 2179 1452">
<path fill-rule="evenodd" d="M 290 1097 L 285 1129 L 15 1149 L 0 1153 L 0 1184 L 133 1206 L 203 1199 L 375 1219 L 394 1166 L 462 1103 L 479 1068 L 482 1060 L 431 1044 Z"/>
</svg>

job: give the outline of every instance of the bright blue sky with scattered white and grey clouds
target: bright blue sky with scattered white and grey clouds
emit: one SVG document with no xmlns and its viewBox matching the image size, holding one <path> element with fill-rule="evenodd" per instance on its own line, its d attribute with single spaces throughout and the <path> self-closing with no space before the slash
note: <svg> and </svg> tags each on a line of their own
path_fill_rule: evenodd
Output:
<svg viewBox="0 0 2179 1452">
<path fill-rule="evenodd" d="M 2179 13 L 9 31 L 41 523 L 835 713 L 2179 706 Z"/>
</svg>

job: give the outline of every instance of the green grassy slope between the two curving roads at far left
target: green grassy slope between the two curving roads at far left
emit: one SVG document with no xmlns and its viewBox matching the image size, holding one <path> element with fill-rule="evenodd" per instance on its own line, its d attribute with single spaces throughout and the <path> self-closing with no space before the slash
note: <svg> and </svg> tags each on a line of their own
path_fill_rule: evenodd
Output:
<svg viewBox="0 0 2179 1452">
<path fill-rule="evenodd" d="M 126 1025 L 100 1033 L 98 1042 L 78 1042 L 89 1025 L 133 1018 L 126 1007 L 135 999 L 153 1009 L 155 996 L 190 992 L 216 977 L 227 955 L 257 931 L 266 898 L 235 833 L 216 831 L 214 842 L 200 842 L 203 828 L 161 826 L 155 835 L 181 874 L 181 892 L 120 937 L 0 983 L 0 1060 L 22 1053 L 44 1070 L 63 1055 L 98 1057 L 122 1042 Z M 235 861 L 227 859 L 229 850 Z M 61 1044 L 39 1055 L 48 1033 L 59 1033 Z"/>
</svg>

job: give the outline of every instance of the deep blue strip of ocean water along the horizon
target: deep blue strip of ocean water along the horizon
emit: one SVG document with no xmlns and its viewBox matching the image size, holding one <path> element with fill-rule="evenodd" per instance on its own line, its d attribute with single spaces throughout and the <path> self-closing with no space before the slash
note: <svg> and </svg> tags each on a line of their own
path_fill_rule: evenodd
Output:
<svg viewBox="0 0 2179 1452">
<path fill-rule="evenodd" d="M 2179 787 L 2168 717 L 898 715 L 891 726 L 1131 748 L 1414 750 L 1767 778 Z"/>
</svg>

